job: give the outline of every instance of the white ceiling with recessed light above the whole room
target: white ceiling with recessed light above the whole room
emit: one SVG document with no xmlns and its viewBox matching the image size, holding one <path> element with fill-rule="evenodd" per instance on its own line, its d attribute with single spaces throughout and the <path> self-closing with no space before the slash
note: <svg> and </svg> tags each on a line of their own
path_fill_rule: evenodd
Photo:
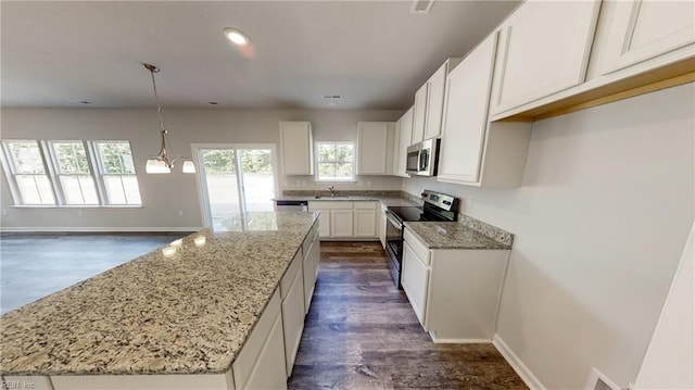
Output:
<svg viewBox="0 0 695 390">
<path fill-rule="evenodd" d="M 2 1 L 2 106 L 406 109 L 519 1 Z M 243 30 L 241 51 L 222 30 Z"/>
</svg>

